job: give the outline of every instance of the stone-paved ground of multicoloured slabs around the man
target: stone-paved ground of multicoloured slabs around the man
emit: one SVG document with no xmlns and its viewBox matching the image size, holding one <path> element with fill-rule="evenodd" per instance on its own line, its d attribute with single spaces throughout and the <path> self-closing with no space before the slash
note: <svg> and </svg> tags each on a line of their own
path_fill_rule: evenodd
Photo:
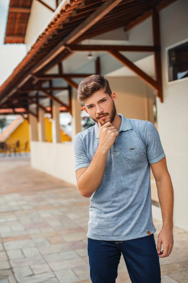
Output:
<svg viewBox="0 0 188 283">
<path fill-rule="evenodd" d="M 89 199 L 31 168 L 27 157 L 0 157 L 0 180 L 0 283 L 91 283 Z M 154 224 L 157 240 L 161 223 Z M 171 255 L 160 258 L 162 282 L 186 283 L 188 233 L 175 227 L 174 238 Z M 124 282 L 130 278 L 122 256 L 116 283 Z"/>
</svg>

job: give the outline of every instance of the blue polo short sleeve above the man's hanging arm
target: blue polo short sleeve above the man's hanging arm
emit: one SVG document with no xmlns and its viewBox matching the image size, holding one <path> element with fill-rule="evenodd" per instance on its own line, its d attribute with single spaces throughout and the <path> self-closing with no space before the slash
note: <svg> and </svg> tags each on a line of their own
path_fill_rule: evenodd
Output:
<svg viewBox="0 0 188 283">
<path fill-rule="evenodd" d="M 165 157 L 159 133 L 155 126 L 149 121 L 147 121 L 145 125 L 144 140 L 149 164 L 157 163 Z"/>
</svg>

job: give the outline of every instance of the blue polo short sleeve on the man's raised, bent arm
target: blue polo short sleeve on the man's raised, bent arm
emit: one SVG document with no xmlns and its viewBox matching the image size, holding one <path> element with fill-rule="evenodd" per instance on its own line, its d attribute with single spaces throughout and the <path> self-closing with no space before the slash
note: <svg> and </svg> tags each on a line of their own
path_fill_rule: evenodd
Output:
<svg viewBox="0 0 188 283">
<path fill-rule="evenodd" d="M 83 167 L 88 167 L 90 160 L 86 154 L 84 144 L 78 134 L 76 134 L 73 143 L 75 155 L 75 171 Z"/>
</svg>

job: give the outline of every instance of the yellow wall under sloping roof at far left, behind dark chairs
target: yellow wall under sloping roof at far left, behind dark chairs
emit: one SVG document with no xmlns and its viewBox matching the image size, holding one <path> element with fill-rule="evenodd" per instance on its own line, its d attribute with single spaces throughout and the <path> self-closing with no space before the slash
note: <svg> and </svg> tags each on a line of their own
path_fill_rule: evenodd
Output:
<svg viewBox="0 0 188 283">
<path fill-rule="evenodd" d="M 16 128 L 16 130 L 13 131 L 5 142 L 7 144 L 14 144 L 18 140 L 20 142 L 20 149 L 23 149 L 25 147 L 25 143 L 28 142 L 26 151 L 29 151 L 29 123 L 27 119 L 24 119 L 24 121 L 18 126 L 18 128 Z M 24 150 L 21 150 L 21 152 L 22 151 Z"/>
</svg>

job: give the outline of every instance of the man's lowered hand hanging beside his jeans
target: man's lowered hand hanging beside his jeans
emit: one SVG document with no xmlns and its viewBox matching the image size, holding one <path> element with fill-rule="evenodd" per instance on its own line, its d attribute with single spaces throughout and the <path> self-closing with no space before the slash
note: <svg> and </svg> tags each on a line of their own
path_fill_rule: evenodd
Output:
<svg viewBox="0 0 188 283">
<path fill-rule="evenodd" d="M 163 244 L 164 250 L 161 252 L 161 244 Z M 157 253 L 159 258 L 168 257 L 172 251 L 174 245 L 172 228 L 162 228 L 157 241 Z"/>
</svg>

